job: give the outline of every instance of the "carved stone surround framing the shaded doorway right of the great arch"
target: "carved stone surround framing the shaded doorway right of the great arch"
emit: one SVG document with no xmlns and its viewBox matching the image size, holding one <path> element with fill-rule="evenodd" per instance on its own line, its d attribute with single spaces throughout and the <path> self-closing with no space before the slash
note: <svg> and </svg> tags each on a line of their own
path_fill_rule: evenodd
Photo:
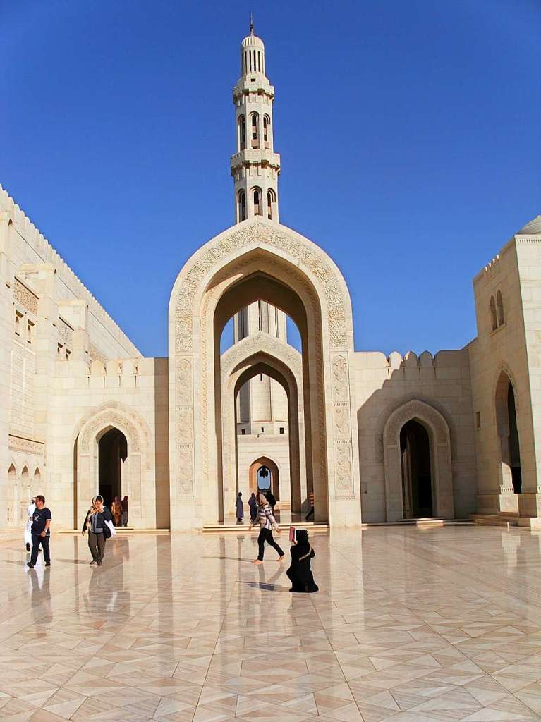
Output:
<svg viewBox="0 0 541 722">
<path fill-rule="evenodd" d="M 454 517 L 451 435 L 449 425 L 433 406 L 407 401 L 389 415 L 384 426 L 385 506 L 387 521 L 404 518 L 400 431 L 408 421 L 417 421 L 428 431 L 434 515 Z"/>
</svg>

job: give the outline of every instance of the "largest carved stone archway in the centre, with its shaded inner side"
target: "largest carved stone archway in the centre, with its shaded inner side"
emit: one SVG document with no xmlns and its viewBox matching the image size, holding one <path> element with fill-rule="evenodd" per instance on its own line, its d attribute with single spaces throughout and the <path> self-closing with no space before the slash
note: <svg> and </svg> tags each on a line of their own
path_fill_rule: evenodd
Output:
<svg viewBox="0 0 541 722">
<path fill-rule="evenodd" d="M 307 467 L 314 493 L 328 498 L 331 523 L 358 526 L 358 456 L 352 445 L 357 419 L 351 409 L 353 334 L 347 286 L 321 248 L 285 226 L 254 219 L 226 230 L 194 253 L 171 293 L 173 527 L 191 529 L 215 518 L 222 477 L 219 339 L 225 321 L 256 300 L 257 294 L 292 316 L 303 339 L 303 391 L 310 419 Z M 327 509 L 321 513 L 326 517 Z"/>
</svg>

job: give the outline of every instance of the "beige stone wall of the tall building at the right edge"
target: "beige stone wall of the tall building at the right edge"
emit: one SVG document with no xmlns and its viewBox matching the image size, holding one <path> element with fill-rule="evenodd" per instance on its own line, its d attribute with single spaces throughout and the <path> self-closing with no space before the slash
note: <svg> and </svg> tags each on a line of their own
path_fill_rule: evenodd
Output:
<svg viewBox="0 0 541 722">
<path fill-rule="evenodd" d="M 478 510 L 539 516 L 541 238 L 515 236 L 474 281 L 477 339 L 469 344 L 477 446 Z M 503 323 L 493 329 L 490 299 L 501 292 Z M 496 308 L 498 316 L 498 309 Z M 516 398 L 522 495 L 513 492 L 502 464 L 496 412 L 496 384 L 504 372 Z"/>
</svg>

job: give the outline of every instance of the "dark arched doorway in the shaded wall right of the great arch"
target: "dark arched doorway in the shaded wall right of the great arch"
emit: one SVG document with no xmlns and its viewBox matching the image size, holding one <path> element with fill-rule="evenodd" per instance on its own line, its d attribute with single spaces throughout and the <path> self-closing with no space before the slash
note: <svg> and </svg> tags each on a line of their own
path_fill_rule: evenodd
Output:
<svg viewBox="0 0 541 722">
<path fill-rule="evenodd" d="M 424 426 L 408 421 L 400 432 L 404 518 L 433 516 L 430 438 Z"/>
</svg>

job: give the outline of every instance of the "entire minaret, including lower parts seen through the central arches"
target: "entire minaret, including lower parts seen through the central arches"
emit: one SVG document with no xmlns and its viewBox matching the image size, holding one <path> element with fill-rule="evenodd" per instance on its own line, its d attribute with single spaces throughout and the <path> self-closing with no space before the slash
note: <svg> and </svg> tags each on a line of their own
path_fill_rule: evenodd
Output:
<svg viewBox="0 0 541 722">
<path fill-rule="evenodd" d="M 237 152 L 231 156 L 231 175 L 237 223 L 256 216 L 278 222 L 280 155 L 274 152 L 274 87 L 265 70 L 265 46 L 254 34 L 251 22 L 250 34 L 241 43 L 241 77 L 233 88 Z M 235 314 L 235 344 L 258 333 L 285 342 L 285 313 L 259 300 Z M 248 478 L 248 469 L 255 459 L 264 456 L 274 459 L 280 484 L 273 483 L 272 489 L 282 508 L 287 508 L 290 503 L 287 394 L 276 380 L 259 374 L 239 390 L 236 405 L 239 479 Z"/>
</svg>

